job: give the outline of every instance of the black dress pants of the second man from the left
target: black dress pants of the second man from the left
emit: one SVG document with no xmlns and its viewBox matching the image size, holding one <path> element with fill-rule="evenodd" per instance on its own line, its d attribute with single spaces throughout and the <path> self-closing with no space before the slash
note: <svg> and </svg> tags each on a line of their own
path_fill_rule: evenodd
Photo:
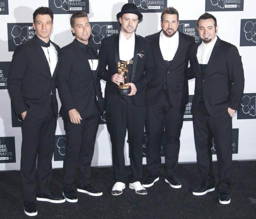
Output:
<svg viewBox="0 0 256 219">
<path fill-rule="evenodd" d="M 63 161 L 63 190 L 83 187 L 90 182 L 90 168 L 94 153 L 100 113 L 96 109 L 81 124 L 71 123 L 68 112 L 63 114 L 67 148 Z M 77 174 L 78 166 L 78 174 Z"/>
</svg>

